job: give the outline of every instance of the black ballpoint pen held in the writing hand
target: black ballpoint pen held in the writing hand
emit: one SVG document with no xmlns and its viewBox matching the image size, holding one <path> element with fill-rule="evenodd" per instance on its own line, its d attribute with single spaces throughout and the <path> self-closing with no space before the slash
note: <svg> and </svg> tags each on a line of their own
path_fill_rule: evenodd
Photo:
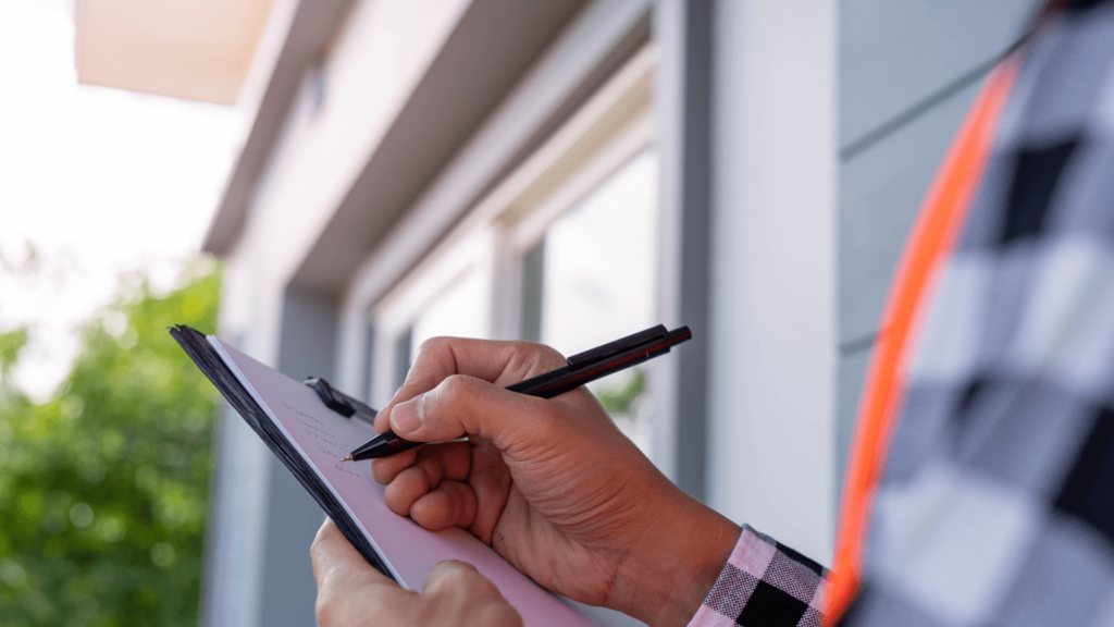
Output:
<svg viewBox="0 0 1114 627">
<path fill-rule="evenodd" d="M 507 389 L 540 398 L 553 398 L 570 389 L 576 389 L 584 384 L 653 359 L 658 355 L 665 355 L 670 351 L 671 347 L 687 341 L 692 337 L 693 334 L 688 330 L 688 327 L 681 327 L 670 331 L 664 326 L 658 325 L 623 339 L 593 348 L 592 350 L 586 350 L 579 355 L 574 355 L 568 358 L 567 366 L 516 383 L 508 386 Z M 351 455 L 341 461 L 359 462 L 362 460 L 387 457 L 421 446 L 422 444 L 424 442 L 402 440 L 398 435 L 394 435 L 393 432 L 385 431 L 355 451 L 352 451 Z"/>
</svg>

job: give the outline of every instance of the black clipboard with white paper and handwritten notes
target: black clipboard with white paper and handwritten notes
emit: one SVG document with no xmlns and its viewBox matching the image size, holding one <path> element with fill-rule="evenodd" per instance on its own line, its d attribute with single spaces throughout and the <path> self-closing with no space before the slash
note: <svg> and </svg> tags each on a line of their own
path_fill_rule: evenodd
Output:
<svg viewBox="0 0 1114 627">
<path fill-rule="evenodd" d="M 189 327 L 174 327 L 170 335 L 368 563 L 399 586 L 420 590 L 434 563 L 456 559 L 489 579 L 528 627 L 632 624 L 618 612 L 554 595 L 463 529 L 429 531 L 391 512 L 370 464 L 340 462 L 374 435 L 371 407 L 320 378 L 294 380 Z"/>
</svg>

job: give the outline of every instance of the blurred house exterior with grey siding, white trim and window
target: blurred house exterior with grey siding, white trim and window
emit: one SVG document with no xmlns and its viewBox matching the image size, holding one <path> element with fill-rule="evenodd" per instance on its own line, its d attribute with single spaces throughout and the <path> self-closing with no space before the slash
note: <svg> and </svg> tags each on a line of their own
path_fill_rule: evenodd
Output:
<svg viewBox="0 0 1114 627">
<path fill-rule="evenodd" d="M 830 560 L 890 274 L 1034 7 L 275 0 L 205 243 L 219 332 L 381 406 L 437 335 L 688 325 L 595 390 L 684 490 Z M 217 455 L 204 623 L 313 624 L 323 514 L 234 415 Z"/>
</svg>

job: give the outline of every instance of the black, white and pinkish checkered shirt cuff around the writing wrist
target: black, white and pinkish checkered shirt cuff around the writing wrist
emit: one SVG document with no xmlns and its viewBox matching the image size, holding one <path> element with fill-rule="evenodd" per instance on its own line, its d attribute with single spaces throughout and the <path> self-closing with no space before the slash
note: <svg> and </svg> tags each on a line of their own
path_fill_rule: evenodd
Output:
<svg viewBox="0 0 1114 627">
<path fill-rule="evenodd" d="M 688 627 L 823 627 L 828 570 L 747 525 Z"/>
</svg>

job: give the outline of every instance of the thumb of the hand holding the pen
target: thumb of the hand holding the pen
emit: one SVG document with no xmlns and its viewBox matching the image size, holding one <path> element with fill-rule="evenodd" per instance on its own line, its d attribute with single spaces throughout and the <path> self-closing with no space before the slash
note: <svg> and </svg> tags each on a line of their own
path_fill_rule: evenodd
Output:
<svg viewBox="0 0 1114 627">
<path fill-rule="evenodd" d="M 453 375 L 433 389 L 391 408 L 391 430 L 413 442 L 448 442 L 465 435 L 490 440 L 499 450 L 528 446 L 551 428 L 547 401 L 488 382 Z"/>
</svg>

